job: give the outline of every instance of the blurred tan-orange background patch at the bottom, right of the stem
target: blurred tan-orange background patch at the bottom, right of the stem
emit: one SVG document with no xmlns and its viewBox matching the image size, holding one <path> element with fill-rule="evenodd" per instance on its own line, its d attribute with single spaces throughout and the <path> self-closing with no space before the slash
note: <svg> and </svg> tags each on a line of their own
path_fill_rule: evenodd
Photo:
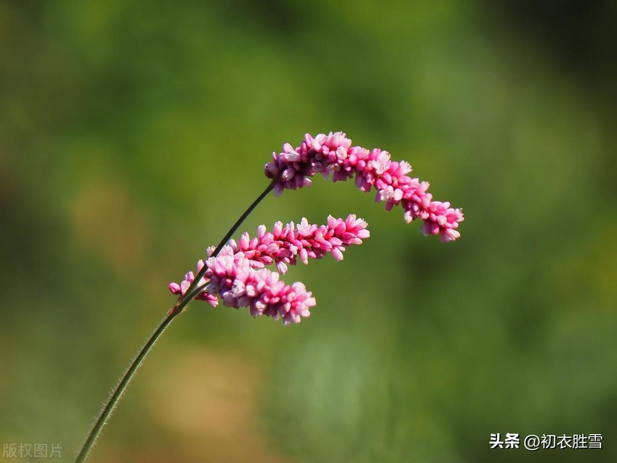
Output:
<svg viewBox="0 0 617 463">
<path fill-rule="evenodd" d="M 250 358 L 196 348 L 168 367 L 151 378 L 147 403 L 160 427 L 178 436 L 183 461 L 289 461 L 273 453 L 260 427 L 259 398 L 271 391 Z"/>
</svg>

